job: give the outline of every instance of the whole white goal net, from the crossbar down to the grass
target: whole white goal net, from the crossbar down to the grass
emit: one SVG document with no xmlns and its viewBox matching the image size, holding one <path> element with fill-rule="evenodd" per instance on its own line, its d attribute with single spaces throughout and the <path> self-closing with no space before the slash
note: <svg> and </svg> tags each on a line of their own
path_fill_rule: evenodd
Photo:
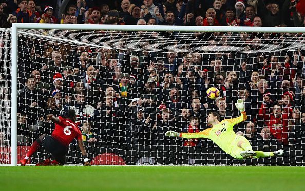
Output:
<svg viewBox="0 0 305 191">
<path fill-rule="evenodd" d="M 65 117 L 73 109 L 91 164 L 304 164 L 304 33 L 134 27 L 18 30 L 18 160 L 40 135 L 52 133 L 48 114 Z M 10 31 L 0 32 L 0 163 L 6 164 L 11 39 Z M 217 99 L 207 97 L 211 87 L 220 91 Z M 237 99 L 244 99 L 248 118 L 234 131 L 253 150 L 282 148 L 282 157 L 237 160 L 207 139 L 165 136 L 209 128 L 211 112 L 220 120 L 238 117 Z M 50 157 L 41 147 L 30 164 Z M 82 163 L 76 141 L 66 163 Z"/>
</svg>

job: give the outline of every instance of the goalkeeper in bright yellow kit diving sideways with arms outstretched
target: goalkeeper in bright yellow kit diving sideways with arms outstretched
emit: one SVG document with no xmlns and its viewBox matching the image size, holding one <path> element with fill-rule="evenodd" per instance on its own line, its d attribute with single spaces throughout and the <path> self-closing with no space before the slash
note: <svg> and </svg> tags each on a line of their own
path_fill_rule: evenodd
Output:
<svg viewBox="0 0 305 191">
<path fill-rule="evenodd" d="M 219 122 L 219 115 L 212 112 L 207 116 L 207 123 L 212 125 L 212 128 L 205 129 L 198 133 L 177 133 L 175 131 L 167 131 L 165 135 L 187 139 L 211 139 L 224 152 L 236 159 L 263 158 L 283 155 L 282 149 L 274 152 L 253 151 L 249 141 L 245 137 L 234 133 L 233 126 L 247 119 L 246 112 L 244 111 L 243 100 L 237 100 L 235 106 L 241 112 L 241 115 L 237 118 L 224 119 Z"/>
</svg>

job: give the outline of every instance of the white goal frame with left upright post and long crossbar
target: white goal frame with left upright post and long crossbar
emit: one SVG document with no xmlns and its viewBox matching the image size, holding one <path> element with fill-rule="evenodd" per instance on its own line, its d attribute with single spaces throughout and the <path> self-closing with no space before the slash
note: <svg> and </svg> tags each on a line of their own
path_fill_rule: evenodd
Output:
<svg viewBox="0 0 305 191">
<path fill-rule="evenodd" d="M 97 30 L 97 31 L 176 31 L 176 32 L 249 32 L 249 33 L 302 33 L 304 36 L 305 28 L 301 27 L 218 27 L 218 26 L 146 26 L 146 25 L 82 25 L 82 24 L 26 24 L 13 23 L 11 28 L 11 165 L 17 165 L 17 91 L 18 91 L 18 31 L 21 29 L 35 30 Z M 30 34 L 30 30 L 25 33 Z M 33 34 L 34 35 L 34 34 Z M 39 36 L 39 34 L 37 35 Z M 42 37 L 44 37 L 42 35 Z M 55 37 L 54 37 L 55 38 Z M 97 41 L 99 39 L 96 39 Z M 75 41 L 66 39 L 65 43 L 75 44 Z M 85 44 L 86 45 L 86 44 Z M 88 43 L 92 46 L 92 43 Z M 103 48 L 101 45 L 96 47 Z M 107 46 L 105 46 L 107 47 Z M 283 50 L 291 50 L 290 45 Z M 216 49 L 216 48 L 215 48 Z M 303 45 L 299 49 L 304 50 Z M 191 51 L 191 50 L 190 50 Z M 217 51 L 222 51 L 221 48 Z M 225 49 L 223 52 L 229 52 Z M 276 50 L 271 50 L 271 52 Z M 251 50 L 250 50 L 251 52 Z M 260 106 L 260 105 L 259 105 Z M 0 164 L 1 165 L 1 164 Z"/>
</svg>

